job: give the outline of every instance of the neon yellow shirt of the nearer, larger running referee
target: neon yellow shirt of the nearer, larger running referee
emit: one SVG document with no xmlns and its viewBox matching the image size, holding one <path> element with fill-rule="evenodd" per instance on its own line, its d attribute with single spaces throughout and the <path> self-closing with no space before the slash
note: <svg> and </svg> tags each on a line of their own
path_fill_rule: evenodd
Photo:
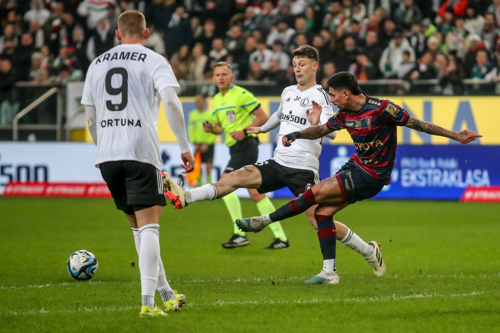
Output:
<svg viewBox="0 0 500 333">
<path fill-rule="evenodd" d="M 259 106 L 253 93 L 234 84 L 225 95 L 218 92 L 213 96 L 213 121 L 220 123 L 224 130 L 224 142 L 228 147 L 237 142 L 230 133 L 248 127 L 252 122 L 252 112 Z"/>
</svg>

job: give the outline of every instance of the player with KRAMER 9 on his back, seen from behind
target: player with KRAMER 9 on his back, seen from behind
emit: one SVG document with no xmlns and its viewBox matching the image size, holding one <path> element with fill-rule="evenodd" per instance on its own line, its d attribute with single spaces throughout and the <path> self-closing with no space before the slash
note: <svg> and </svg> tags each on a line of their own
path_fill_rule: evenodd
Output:
<svg viewBox="0 0 500 333">
<path fill-rule="evenodd" d="M 160 99 L 179 142 L 184 173 L 194 168 L 176 94 L 179 84 L 168 61 L 143 46 L 148 34 L 144 15 L 123 12 L 116 30 L 121 44 L 92 60 L 81 98 L 97 145 L 95 165 L 132 227 L 139 256 L 141 316 L 166 315 L 154 304 L 156 289 L 166 311 L 185 303 L 185 296 L 168 285 L 160 257 L 158 221 L 166 204 L 157 133 Z"/>
</svg>

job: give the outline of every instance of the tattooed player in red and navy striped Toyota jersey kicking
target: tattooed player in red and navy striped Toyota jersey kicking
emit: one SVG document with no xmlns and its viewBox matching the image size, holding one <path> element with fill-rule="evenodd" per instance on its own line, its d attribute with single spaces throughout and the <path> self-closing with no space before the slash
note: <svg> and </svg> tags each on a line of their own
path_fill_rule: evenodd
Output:
<svg viewBox="0 0 500 333">
<path fill-rule="evenodd" d="M 356 78 L 345 71 L 332 75 L 328 86 L 331 102 L 338 107 L 338 112 L 326 123 L 284 135 L 283 146 L 297 144 L 293 143 L 297 139 L 316 140 L 335 130 L 346 129 L 354 141 L 356 153 L 334 176 L 315 184 L 273 213 L 235 221 L 242 230 L 258 232 L 273 220 L 283 220 L 317 205 L 314 217 L 323 267 L 328 262 L 330 266 L 335 266 L 337 230 L 333 215 L 351 203 L 376 195 L 390 182 L 396 154 L 396 126 L 449 137 L 461 143 L 482 136 L 468 129 L 458 133 L 420 121 L 390 100 L 364 95 Z M 323 268 L 305 283 L 323 284 L 335 280 L 338 281 L 336 271 L 329 272 Z"/>
</svg>

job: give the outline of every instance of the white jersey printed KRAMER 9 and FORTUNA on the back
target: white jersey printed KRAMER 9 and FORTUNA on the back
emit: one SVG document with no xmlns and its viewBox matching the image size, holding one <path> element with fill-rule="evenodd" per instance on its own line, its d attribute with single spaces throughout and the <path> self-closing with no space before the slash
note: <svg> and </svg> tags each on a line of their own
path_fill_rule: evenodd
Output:
<svg viewBox="0 0 500 333">
<path fill-rule="evenodd" d="M 142 45 L 117 45 L 92 60 L 81 103 L 97 113 L 96 165 L 136 160 L 161 169 L 158 93 L 167 86 L 179 89 L 172 67 Z"/>
</svg>

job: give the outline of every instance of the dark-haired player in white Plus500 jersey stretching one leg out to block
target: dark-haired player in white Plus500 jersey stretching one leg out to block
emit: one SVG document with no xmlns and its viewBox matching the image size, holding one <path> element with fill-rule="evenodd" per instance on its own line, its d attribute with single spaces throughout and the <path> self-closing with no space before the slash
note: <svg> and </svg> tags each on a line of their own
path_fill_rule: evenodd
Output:
<svg viewBox="0 0 500 333">
<path fill-rule="evenodd" d="M 293 68 L 296 85 L 284 88 L 281 93 L 279 108 L 267 122 L 260 127 L 250 127 L 249 133 L 265 133 L 279 125 L 277 146 L 273 158 L 247 165 L 227 174 L 227 177 L 213 184 L 206 184 L 191 190 L 181 189 L 173 180 L 167 178 L 166 187 L 177 195 L 182 207 L 194 201 L 213 200 L 222 197 L 237 188 L 256 188 L 259 193 L 288 187 L 298 196 L 319 182 L 319 161 L 321 140 L 295 140 L 295 146 L 285 148 L 281 137 L 287 133 L 305 129 L 311 125 L 325 123 L 333 116 L 328 94 L 316 84 L 318 52 L 308 45 L 293 50 Z M 333 134 L 334 132 L 332 132 Z M 328 136 L 331 139 L 335 135 Z M 317 230 L 313 207 L 305 211 L 311 225 Z M 334 221 L 337 238 L 344 245 L 364 256 L 375 275 L 385 273 L 385 263 L 380 255 L 380 246 L 376 241 L 364 242 L 345 224 Z M 324 260 L 323 269 L 335 271 L 332 260 Z M 338 283 L 338 277 L 329 283 Z"/>
</svg>

